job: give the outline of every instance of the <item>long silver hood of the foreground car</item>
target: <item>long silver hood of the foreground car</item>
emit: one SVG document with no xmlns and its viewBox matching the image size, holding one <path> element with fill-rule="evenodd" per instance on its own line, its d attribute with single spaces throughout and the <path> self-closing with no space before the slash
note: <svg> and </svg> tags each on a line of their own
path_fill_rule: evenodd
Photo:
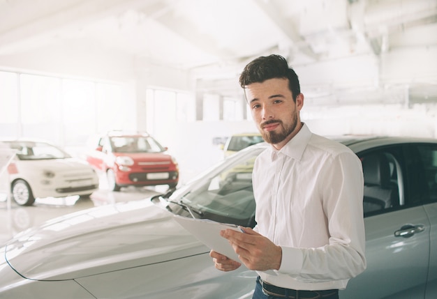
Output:
<svg viewBox="0 0 437 299">
<path fill-rule="evenodd" d="M 6 259 L 28 279 L 75 279 L 209 252 L 150 200 L 83 210 L 24 231 Z"/>
</svg>

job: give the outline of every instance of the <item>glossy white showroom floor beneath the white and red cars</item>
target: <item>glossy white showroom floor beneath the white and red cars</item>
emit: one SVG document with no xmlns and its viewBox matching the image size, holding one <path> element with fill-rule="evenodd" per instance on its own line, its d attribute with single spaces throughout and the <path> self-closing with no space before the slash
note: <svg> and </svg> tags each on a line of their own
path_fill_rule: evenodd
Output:
<svg viewBox="0 0 437 299">
<path fill-rule="evenodd" d="M 36 199 L 34 206 L 18 206 L 5 194 L 0 194 L 0 247 L 24 229 L 38 226 L 54 217 L 60 217 L 78 210 L 114 204 L 121 201 L 145 199 L 158 192 L 165 192 L 168 186 L 127 187 L 120 192 L 111 192 L 102 183 L 89 199 L 66 197 L 61 199 Z"/>
</svg>

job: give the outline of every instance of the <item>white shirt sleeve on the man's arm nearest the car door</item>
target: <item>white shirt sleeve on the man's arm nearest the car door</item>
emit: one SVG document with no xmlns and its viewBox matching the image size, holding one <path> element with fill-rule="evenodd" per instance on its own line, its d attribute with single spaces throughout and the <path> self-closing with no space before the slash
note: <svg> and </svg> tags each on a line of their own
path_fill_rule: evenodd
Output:
<svg viewBox="0 0 437 299">
<path fill-rule="evenodd" d="M 302 282 L 349 279 L 366 268 L 362 164 L 352 152 L 327 163 L 319 194 L 329 230 L 329 244 L 316 248 L 282 247 L 278 273 Z"/>
</svg>

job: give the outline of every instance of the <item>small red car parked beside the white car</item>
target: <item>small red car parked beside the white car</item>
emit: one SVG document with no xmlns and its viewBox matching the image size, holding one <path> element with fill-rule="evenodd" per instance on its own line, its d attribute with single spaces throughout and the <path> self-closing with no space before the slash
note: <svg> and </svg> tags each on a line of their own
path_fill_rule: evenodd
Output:
<svg viewBox="0 0 437 299">
<path fill-rule="evenodd" d="M 87 162 L 105 171 L 110 190 L 121 187 L 169 185 L 179 181 L 179 165 L 166 147 L 148 134 L 111 132 L 98 138 Z"/>
</svg>

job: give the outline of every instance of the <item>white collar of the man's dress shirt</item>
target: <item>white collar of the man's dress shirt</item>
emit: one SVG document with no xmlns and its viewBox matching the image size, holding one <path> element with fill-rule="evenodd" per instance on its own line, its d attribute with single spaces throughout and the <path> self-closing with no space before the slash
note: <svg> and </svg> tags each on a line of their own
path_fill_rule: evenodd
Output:
<svg viewBox="0 0 437 299">
<path fill-rule="evenodd" d="M 288 141 L 288 143 L 279 151 L 273 146 L 270 146 L 272 160 L 274 160 L 276 155 L 279 155 L 280 153 L 283 155 L 288 155 L 290 158 L 295 160 L 300 160 L 304 154 L 306 145 L 309 143 L 309 139 L 311 139 L 311 135 L 311 131 L 304 123 L 295 137 L 292 137 L 292 139 Z"/>
</svg>

